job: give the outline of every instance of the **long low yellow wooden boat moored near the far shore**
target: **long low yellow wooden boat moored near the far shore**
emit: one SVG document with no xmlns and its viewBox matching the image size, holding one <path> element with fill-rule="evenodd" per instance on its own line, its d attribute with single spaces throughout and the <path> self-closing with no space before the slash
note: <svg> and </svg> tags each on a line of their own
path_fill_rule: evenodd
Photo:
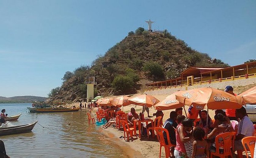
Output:
<svg viewBox="0 0 256 158">
<path fill-rule="evenodd" d="M 78 108 L 60 108 L 60 107 L 56 107 L 56 108 L 29 108 L 30 112 L 75 112 L 78 111 L 80 109 L 80 107 Z"/>
</svg>

